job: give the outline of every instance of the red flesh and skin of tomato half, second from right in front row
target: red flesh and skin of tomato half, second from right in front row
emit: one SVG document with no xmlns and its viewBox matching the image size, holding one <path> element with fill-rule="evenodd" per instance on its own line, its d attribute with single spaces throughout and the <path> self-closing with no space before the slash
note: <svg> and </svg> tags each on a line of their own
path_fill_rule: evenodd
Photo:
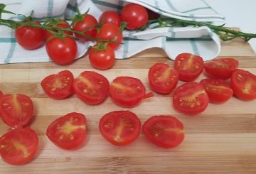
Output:
<svg viewBox="0 0 256 174">
<path fill-rule="evenodd" d="M 122 138 L 122 135 L 120 135 L 120 141 L 116 141 L 114 140 L 115 135 L 112 134 L 112 129 L 118 129 L 116 128 L 116 126 L 119 126 L 119 121 L 121 118 L 124 118 L 124 121 L 126 122 L 132 122 L 132 124 L 129 124 L 129 129 L 131 129 L 132 126 L 132 131 L 131 130 L 124 130 L 125 132 L 122 132 L 122 135 L 124 137 Z M 114 124 L 111 125 L 112 127 L 109 128 L 106 126 L 106 122 L 108 122 L 108 119 L 111 119 L 111 121 L 114 121 Z M 109 125 L 109 124 L 108 124 Z M 114 112 L 109 112 L 107 114 L 105 114 L 104 116 L 102 116 L 102 118 L 100 119 L 100 123 L 99 123 L 99 129 L 100 129 L 100 133 L 102 134 L 102 136 L 110 143 L 112 143 L 115 146 L 127 146 L 131 143 L 133 143 L 139 136 L 141 129 L 142 129 L 142 123 L 139 120 L 138 116 L 136 114 L 134 114 L 133 112 L 129 112 L 129 111 L 114 111 Z M 110 129 L 110 130 L 109 130 Z M 121 140 L 122 139 L 122 140 Z"/>
</svg>

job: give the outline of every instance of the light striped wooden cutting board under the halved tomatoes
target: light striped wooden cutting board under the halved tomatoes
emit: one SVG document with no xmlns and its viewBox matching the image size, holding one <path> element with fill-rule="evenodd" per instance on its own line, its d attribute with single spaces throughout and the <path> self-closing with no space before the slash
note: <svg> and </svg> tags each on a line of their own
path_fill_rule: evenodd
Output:
<svg viewBox="0 0 256 174">
<path fill-rule="evenodd" d="M 234 57 L 240 68 L 256 74 L 256 55 L 250 45 L 239 39 L 222 45 L 220 57 Z M 105 71 L 93 69 L 87 57 L 67 66 L 50 62 L 0 65 L 1 91 L 32 98 L 35 120 L 31 127 L 40 138 L 39 151 L 31 163 L 13 166 L 0 160 L 0 173 L 256 173 L 256 100 L 243 102 L 233 97 L 225 104 L 209 104 L 202 114 L 187 116 L 172 107 L 171 94 L 155 94 L 129 110 L 142 123 L 153 115 L 176 116 L 185 126 L 186 137 L 181 146 L 159 148 L 141 134 L 132 145 L 117 147 L 102 138 L 98 123 L 107 112 L 124 108 L 113 104 L 110 98 L 97 106 L 88 106 L 75 95 L 56 101 L 48 98 L 40 85 L 44 77 L 60 70 L 70 70 L 75 77 L 84 70 L 94 70 L 110 82 L 119 75 L 137 77 L 149 92 L 147 72 L 155 62 L 174 63 L 162 50 L 154 48 L 117 60 L 112 69 Z M 196 81 L 204 77 L 201 75 Z M 69 112 L 85 114 L 88 120 L 87 143 L 77 151 L 61 150 L 46 137 L 50 122 Z M 7 129 L 0 121 L 0 135 Z"/>
</svg>

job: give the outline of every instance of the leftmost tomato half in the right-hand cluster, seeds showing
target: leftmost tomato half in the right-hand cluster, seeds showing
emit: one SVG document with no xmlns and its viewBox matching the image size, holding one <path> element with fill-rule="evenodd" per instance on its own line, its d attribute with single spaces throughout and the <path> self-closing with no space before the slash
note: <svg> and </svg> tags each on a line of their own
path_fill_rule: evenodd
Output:
<svg viewBox="0 0 256 174">
<path fill-rule="evenodd" d="M 151 89 L 160 94 L 169 94 L 178 83 L 178 71 L 163 62 L 151 66 L 148 77 Z"/>
</svg>

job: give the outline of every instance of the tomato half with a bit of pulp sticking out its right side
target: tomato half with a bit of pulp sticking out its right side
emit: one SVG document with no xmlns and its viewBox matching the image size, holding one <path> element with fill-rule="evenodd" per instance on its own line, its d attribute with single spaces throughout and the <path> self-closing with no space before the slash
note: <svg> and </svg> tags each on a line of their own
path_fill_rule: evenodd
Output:
<svg viewBox="0 0 256 174">
<path fill-rule="evenodd" d="M 128 76 L 115 78 L 110 84 L 110 97 L 121 107 L 136 107 L 142 99 L 153 97 L 153 93 L 146 94 L 142 81 Z"/>
</svg>

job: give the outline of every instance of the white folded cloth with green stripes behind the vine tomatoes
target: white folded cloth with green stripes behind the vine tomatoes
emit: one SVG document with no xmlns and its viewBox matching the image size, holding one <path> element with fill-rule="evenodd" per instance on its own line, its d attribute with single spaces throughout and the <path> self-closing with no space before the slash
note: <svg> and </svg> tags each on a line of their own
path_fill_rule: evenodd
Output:
<svg viewBox="0 0 256 174">
<path fill-rule="evenodd" d="M 47 17 L 67 18 L 75 16 L 75 8 L 81 13 L 90 9 L 89 13 L 99 18 L 103 11 L 121 11 L 122 6 L 129 3 L 145 6 L 161 15 L 186 19 L 188 21 L 224 21 L 224 17 L 216 13 L 203 0 L 2 0 L 6 10 L 17 15 L 6 14 L 2 18 L 21 19 L 34 11 L 36 19 Z M 82 43 L 79 40 L 77 58 L 82 57 L 93 42 Z M 124 44 L 116 50 L 116 58 L 124 59 L 139 53 L 147 48 L 162 48 L 171 59 L 179 53 L 193 53 L 201 55 L 204 60 L 218 56 L 220 52 L 220 39 L 209 28 L 183 27 L 183 28 L 154 28 L 146 31 L 124 31 Z M 23 49 L 14 38 L 14 31 L 6 26 L 0 26 L 0 63 L 14 62 L 50 62 L 45 46 L 36 50 Z"/>
</svg>

